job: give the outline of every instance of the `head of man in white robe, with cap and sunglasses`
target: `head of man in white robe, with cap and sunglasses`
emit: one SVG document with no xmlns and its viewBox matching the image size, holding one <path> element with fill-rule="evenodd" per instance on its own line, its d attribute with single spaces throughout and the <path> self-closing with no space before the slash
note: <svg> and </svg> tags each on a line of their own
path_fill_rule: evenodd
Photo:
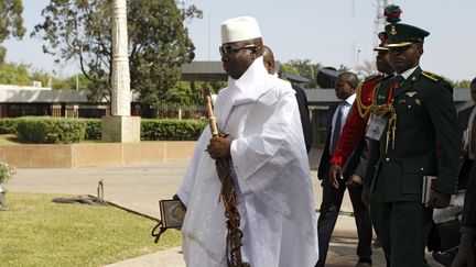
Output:
<svg viewBox="0 0 476 267">
<path fill-rule="evenodd" d="M 221 24 L 219 47 L 225 71 L 239 79 L 253 60 L 262 55 L 261 31 L 250 16 L 229 19 Z"/>
</svg>

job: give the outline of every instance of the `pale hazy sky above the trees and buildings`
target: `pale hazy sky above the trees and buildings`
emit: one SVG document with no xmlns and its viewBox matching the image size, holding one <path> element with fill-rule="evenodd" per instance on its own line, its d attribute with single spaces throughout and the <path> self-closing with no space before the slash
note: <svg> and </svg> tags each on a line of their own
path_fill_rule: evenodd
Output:
<svg viewBox="0 0 476 267">
<path fill-rule="evenodd" d="M 227 19 L 250 15 L 260 25 L 264 44 L 277 60 L 311 59 L 323 66 L 355 68 L 372 62 L 375 0 L 183 0 L 203 11 L 203 19 L 185 22 L 195 45 L 195 60 L 219 60 L 220 24 Z M 54 64 L 42 52 L 43 41 L 29 35 L 43 21 L 48 0 L 23 0 L 22 41 L 9 40 L 7 60 L 30 64 L 34 69 L 65 77 L 78 71 L 77 63 Z M 476 77 L 476 34 L 470 26 L 475 0 L 394 0 L 403 10 L 402 23 L 429 31 L 420 66 L 452 80 Z M 382 26 L 379 29 L 382 30 Z M 473 32 L 473 33 L 470 33 Z"/>
</svg>

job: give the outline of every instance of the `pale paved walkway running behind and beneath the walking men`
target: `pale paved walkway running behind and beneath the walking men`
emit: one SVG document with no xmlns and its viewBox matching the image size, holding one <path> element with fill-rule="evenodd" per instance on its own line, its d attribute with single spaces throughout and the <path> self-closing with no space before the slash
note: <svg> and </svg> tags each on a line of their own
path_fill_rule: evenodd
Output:
<svg viewBox="0 0 476 267">
<path fill-rule="evenodd" d="M 318 152 L 312 152 L 311 162 L 317 162 Z M 9 182 L 14 192 L 97 194 L 99 180 L 104 182 L 107 201 L 133 211 L 159 218 L 159 199 L 171 198 L 180 186 L 187 162 L 143 163 L 129 166 L 88 168 L 21 168 Z M 315 168 L 315 166 L 312 166 Z M 312 171 L 315 205 L 321 203 L 321 187 L 316 171 Z M 328 266 L 354 266 L 356 263 L 356 229 L 350 216 L 351 204 L 348 196 L 342 207 L 343 214 L 337 221 L 334 238 L 327 256 Z M 151 238 L 152 242 L 152 238 Z M 375 249 L 374 266 L 385 266 L 381 249 Z M 182 267 L 185 266 L 181 248 L 144 255 L 108 267 Z M 440 265 L 432 265 L 440 266 Z"/>
</svg>

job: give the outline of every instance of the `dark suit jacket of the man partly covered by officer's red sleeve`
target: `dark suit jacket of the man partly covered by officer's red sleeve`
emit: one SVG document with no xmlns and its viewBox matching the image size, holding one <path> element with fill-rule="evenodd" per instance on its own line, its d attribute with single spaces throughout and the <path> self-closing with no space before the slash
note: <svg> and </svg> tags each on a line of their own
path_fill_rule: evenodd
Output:
<svg viewBox="0 0 476 267">
<path fill-rule="evenodd" d="M 334 116 L 334 113 L 336 111 L 338 107 L 338 103 L 334 103 L 331 104 L 328 108 L 328 113 L 327 113 L 327 137 L 326 137 L 326 143 L 325 143 L 325 147 L 324 147 L 324 152 L 322 154 L 321 157 L 321 163 L 320 163 L 320 167 L 317 170 L 317 178 L 318 179 L 328 179 L 329 178 L 329 162 L 331 162 L 331 155 L 329 155 L 329 146 L 331 146 L 331 133 L 332 133 L 332 120 Z M 355 104 L 353 104 L 353 107 L 350 109 L 355 109 L 357 107 L 355 107 Z M 350 113 L 350 111 L 349 111 Z M 348 118 L 348 116 L 347 116 Z M 359 143 L 359 145 L 356 147 L 356 149 L 354 151 L 353 155 L 349 157 L 347 164 L 343 167 L 344 170 L 344 178 L 347 179 L 349 178 L 353 174 L 354 170 L 356 169 L 356 167 L 359 164 L 359 159 L 360 159 L 360 154 L 363 152 L 364 148 L 364 140 Z M 364 177 L 363 177 L 364 178 Z"/>
</svg>

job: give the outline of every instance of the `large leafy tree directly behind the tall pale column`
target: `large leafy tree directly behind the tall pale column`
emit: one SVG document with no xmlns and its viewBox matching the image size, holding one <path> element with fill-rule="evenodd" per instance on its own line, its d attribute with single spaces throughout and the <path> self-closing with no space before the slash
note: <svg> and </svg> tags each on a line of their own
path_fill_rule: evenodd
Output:
<svg viewBox="0 0 476 267">
<path fill-rule="evenodd" d="M 42 11 L 45 21 L 32 33 L 48 43 L 43 52 L 57 62 L 79 62 L 90 80 L 91 100 L 111 94 L 111 0 L 51 0 Z M 183 25 L 193 18 L 202 18 L 195 5 L 178 9 L 173 0 L 128 0 L 131 89 L 140 92 L 142 103 L 163 100 L 178 80 L 182 64 L 193 59 L 195 47 Z"/>
</svg>

